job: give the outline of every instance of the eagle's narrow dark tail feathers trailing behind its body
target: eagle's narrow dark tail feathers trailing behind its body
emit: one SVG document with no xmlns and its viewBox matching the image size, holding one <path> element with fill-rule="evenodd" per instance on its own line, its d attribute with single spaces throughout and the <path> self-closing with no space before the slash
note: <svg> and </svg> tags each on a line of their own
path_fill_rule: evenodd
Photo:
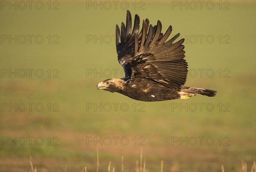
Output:
<svg viewBox="0 0 256 172">
<path fill-rule="evenodd" d="M 198 94 L 209 96 L 209 97 L 216 96 L 215 93 L 217 93 L 217 91 L 214 91 L 214 90 L 207 90 L 203 88 L 194 88 L 194 87 L 181 87 L 180 92 L 189 93 L 189 94 L 198 93 Z M 191 95 L 191 96 L 195 96 L 195 95 Z"/>
</svg>

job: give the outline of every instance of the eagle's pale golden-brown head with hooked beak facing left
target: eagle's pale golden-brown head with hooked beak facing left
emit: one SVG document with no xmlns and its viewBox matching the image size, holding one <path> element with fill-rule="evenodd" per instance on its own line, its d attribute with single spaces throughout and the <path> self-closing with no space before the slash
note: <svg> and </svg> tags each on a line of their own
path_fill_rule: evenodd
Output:
<svg viewBox="0 0 256 172">
<path fill-rule="evenodd" d="M 110 91 L 111 93 L 119 92 L 120 90 L 123 90 L 124 83 L 125 81 L 122 79 L 116 79 L 116 78 L 106 79 L 105 81 L 100 82 L 97 85 L 97 89 Z"/>
</svg>

